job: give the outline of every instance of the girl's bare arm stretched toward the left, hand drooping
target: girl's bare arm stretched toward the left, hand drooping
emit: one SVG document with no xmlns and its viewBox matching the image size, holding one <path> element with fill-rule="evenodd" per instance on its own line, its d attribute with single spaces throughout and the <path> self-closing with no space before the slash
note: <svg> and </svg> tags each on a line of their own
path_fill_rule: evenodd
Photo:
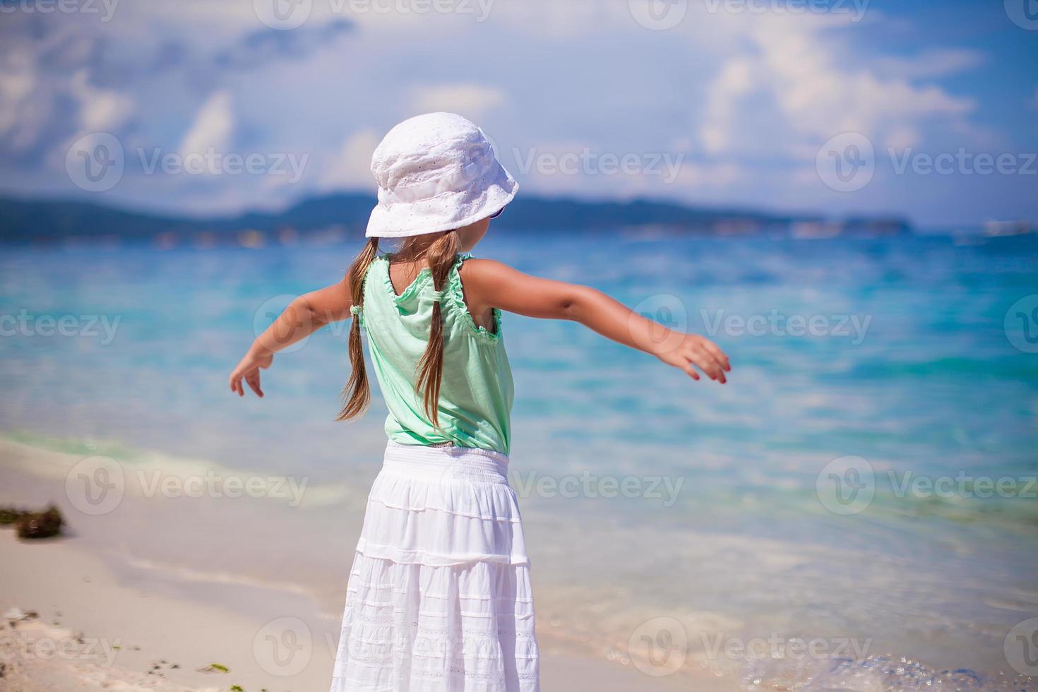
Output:
<svg viewBox="0 0 1038 692">
<path fill-rule="evenodd" d="M 345 279 L 292 301 L 274 324 L 252 342 L 242 362 L 230 373 L 230 391 L 244 396 L 244 379 L 256 396 L 263 396 L 260 370 L 271 366 L 274 354 L 303 340 L 326 325 L 349 319 L 351 307 L 353 301 Z"/>
</svg>

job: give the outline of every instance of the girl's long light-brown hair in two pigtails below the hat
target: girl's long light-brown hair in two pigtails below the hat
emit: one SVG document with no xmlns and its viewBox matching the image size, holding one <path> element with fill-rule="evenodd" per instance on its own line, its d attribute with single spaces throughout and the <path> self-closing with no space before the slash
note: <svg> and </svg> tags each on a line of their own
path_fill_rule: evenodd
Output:
<svg viewBox="0 0 1038 692">
<path fill-rule="evenodd" d="M 418 242 L 417 238 L 406 239 L 400 246 L 399 252 L 413 256 L 416 260 L 427 259 L 429 271 L 433 277 L 433 290 L 443 290 L 450 275 L 450 269 L 461 251 L 461 239 L 458 237 L 458 231 L 447 231 L 429 246 L 414 252 L 414 246 Z M 353 260 L 347 273 L 350 296 L 356 307 L 363 308 L 364 278 L 378 254 L 379 241 L 377 238 L 373 238 Z M 359 323 L 360 321 L 354 316 L 353 324 L 350 326 L 350 365 L 353 371 L 350 373 L 346 388 L 343 389 L 343 410 L 339 412 L 337 420 L 353 420 L 360 417 L 367 410 L 372 400 Z M 418 361 L 415 372 L 414 391 L 422 398 L 426 415 L 429 416 L 433 425 L 437 426 L 439 425 L 440 383 L 443 380 L 443 313 L 440 309 L 440 303 L 436 302 L 433 303 L 433 319 L 429 327 L 429 344 Z"/>
</svg>

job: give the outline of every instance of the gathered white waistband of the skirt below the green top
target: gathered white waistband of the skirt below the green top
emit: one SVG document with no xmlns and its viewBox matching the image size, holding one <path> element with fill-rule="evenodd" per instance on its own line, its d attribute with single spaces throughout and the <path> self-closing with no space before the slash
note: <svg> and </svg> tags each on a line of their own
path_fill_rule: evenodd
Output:
<svg viewBox="0 0 1038 692">
<path fill-rule="evenodd" d="M 492 449 L 389 442 L 382 468 L 431 480 L 457 477 L 480 482 L 509 481 L 509 458 Z"/>
</svg>

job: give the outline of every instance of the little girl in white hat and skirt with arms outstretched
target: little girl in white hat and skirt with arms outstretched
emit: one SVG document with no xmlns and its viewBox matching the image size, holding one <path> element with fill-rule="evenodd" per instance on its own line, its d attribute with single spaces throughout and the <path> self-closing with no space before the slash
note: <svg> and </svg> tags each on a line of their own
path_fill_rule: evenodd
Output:
<svg viewBox="0 0 1038 692">
<path fill-rule="evenodd" d="M 459 115 L 407 120 L 372 162 L 371 239 L 343 282 L 295 300 L 230 375 L 258 396 L 274 354 L 353 317 L 340 420 L 371 399 L 361 327 L 389 409 L 384 465 L 347 587 L 331 692 L 539 690 L 529 560 L 508 481 L 512 371 L 501 311 L 572 320 L 693 380 L 728 358 L 585 286 L 469 252 L 518 185 Z M 398 239 L 380 254 L 379 239 Z"/>
</svg>

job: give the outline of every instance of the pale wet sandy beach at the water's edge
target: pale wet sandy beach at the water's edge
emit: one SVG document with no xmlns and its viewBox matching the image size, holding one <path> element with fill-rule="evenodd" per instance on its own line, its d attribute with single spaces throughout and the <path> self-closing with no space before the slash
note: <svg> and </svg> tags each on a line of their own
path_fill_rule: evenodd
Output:
<svg viewBox="0 0 1038 692">
<path fill-rule="evenodd" d="M 69 522 L 63 537 L 35 543 L 0 531 L 0 689 L 326 689 L 338 627 L 333 608 L 343 597 L 335 602 L 325 592 L 334 586 L 305 574 L 284 578 L 296 558 L 274 555 L 277 547 L 321 550 L 305 533 L 293 539 L 300 524 L 291 511 L 263 499 L 142 497 L 127 482 L 116 510 L 88 516 L 65 490 L 79 461 L 0 442 L 0 504 L 54 501 Z M 344 564 L 344 585 L 359 530 L 359 515 L 348 514 L 340 544 L 324 547 L 333 553 L 327 559 Z M 230 530 L 242 522 L 248 531 Z M 273 535 L 274 526 L 286 533 Z M 626 660 L 575 654 L 544 619 L 547 691 L 687 689 L 684 675 L 649 676 Z M 696 679 L 696 690 L 732 689 Z"/>
</svg>

